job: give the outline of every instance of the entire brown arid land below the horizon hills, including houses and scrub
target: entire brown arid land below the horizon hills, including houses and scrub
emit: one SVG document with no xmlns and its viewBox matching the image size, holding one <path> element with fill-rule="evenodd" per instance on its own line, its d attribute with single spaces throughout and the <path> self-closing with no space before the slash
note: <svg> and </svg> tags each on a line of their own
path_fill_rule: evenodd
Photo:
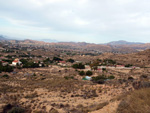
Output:
<svg viewBox="0 0 150 113">
<path fill-rule="evenodd" d="M 1 41 L 0 112 L 149 113 L 149 49 L 69 44 Z"/>
</svg>

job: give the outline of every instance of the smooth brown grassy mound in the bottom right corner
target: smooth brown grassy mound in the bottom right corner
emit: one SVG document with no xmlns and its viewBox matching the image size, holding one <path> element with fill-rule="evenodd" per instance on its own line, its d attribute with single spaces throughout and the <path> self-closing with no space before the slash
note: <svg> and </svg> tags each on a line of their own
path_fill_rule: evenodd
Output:
<svg viewBox="0 0 150 113">
<path fill-rule="evenodd" d="M 132 92 L 121 101 L 117 113 L 150 113 L 150 88 Z"/>
</svg>

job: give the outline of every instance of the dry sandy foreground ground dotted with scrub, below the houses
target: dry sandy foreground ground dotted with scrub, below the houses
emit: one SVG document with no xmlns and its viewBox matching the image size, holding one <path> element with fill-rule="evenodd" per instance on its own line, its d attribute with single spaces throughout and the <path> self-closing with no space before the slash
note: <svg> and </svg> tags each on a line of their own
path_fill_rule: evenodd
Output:
<svg viewBox="0 0 150 113">
<path fill-rule="evenodd" d="M 16 70 L 8 78 L 0 78 L 1 112 L 11 104 L 29 113 L 113 113 L 119 97 L 134 90 L 133 82 L 140 79 L 141 72 L 148 74 L 149 70 L 108 70 L 105 74 L 114 74 L 116 78 L 97 84 L 82 80 L 72 68 L 52 66 Z M 66 79 L 65 76 L 71 77 Z M 134 81 L 127 80 L 129 76 Z"/>
</svg>

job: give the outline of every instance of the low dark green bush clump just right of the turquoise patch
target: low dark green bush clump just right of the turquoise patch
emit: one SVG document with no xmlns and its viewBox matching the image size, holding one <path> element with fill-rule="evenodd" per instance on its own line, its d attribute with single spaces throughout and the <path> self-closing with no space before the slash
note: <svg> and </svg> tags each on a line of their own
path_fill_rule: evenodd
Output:
<svg viewBox="0 0 150 113">
<path fill-rule="evenodd" d="M 109 77 L 106 77 L 105 75 L 99 75 L 99 76 L 96 76 L 96 77 L 92 77 L 92 81 L 94 83 L 103 84 L 103 83 L 105 83 L 106 80 L 114 79 L 114 78 L 115 77 L 113 75 L 111 75 Z"/>
</svg>

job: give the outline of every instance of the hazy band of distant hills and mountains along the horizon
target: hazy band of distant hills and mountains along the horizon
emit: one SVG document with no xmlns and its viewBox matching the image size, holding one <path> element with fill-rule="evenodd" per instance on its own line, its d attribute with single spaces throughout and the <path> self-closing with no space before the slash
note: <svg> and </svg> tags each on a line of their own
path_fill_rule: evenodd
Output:
<svg viewBox="0 0 150 113">
<path fill-rule="evenodd" d="M 0 35 L 0 41 L 9 41 L 13 44 L 26 44 L 26 45 L 49 45 L 60 48 L 71 49 L 84 49 L 98 52 L 114 52 L 114 53 L 133 53 L 150 49 L 150 43 L 141 42 L 127 42 L 124 40 L 113 41 L 106 44 L 94 44 L 86 42 L 58 42 L 57 40 L 41 39 L 37 40 L 16 40 L 3 35 Z"/>
</svg>

